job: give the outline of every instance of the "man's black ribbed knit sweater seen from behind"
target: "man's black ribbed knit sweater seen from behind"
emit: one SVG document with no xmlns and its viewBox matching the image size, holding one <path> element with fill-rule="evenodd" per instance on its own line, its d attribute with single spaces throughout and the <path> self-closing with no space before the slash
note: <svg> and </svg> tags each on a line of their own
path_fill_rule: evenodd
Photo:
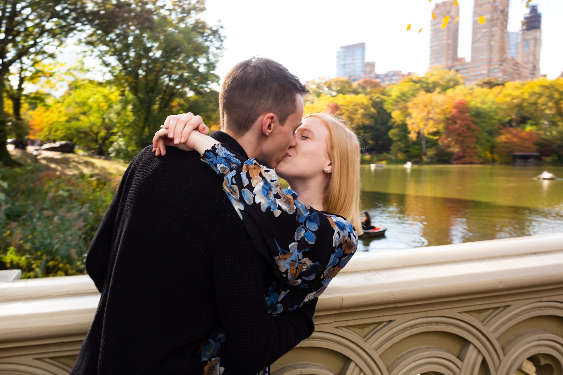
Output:
<svg viewBox="0 0 563 375">
<path fill-rule="evenodd" d="M 229 135 L 213 137 L 245 155 Z M 272 317 L 272 271 L 222 177 L 196 152 L 150 149 L 127 168 L 88 250 L 101 297 L 71 374 L 200 375 L 200 344 L 218 323 L 229 375 L 255 374 L 311 335 L 315 304 Z"/>
</svg>

